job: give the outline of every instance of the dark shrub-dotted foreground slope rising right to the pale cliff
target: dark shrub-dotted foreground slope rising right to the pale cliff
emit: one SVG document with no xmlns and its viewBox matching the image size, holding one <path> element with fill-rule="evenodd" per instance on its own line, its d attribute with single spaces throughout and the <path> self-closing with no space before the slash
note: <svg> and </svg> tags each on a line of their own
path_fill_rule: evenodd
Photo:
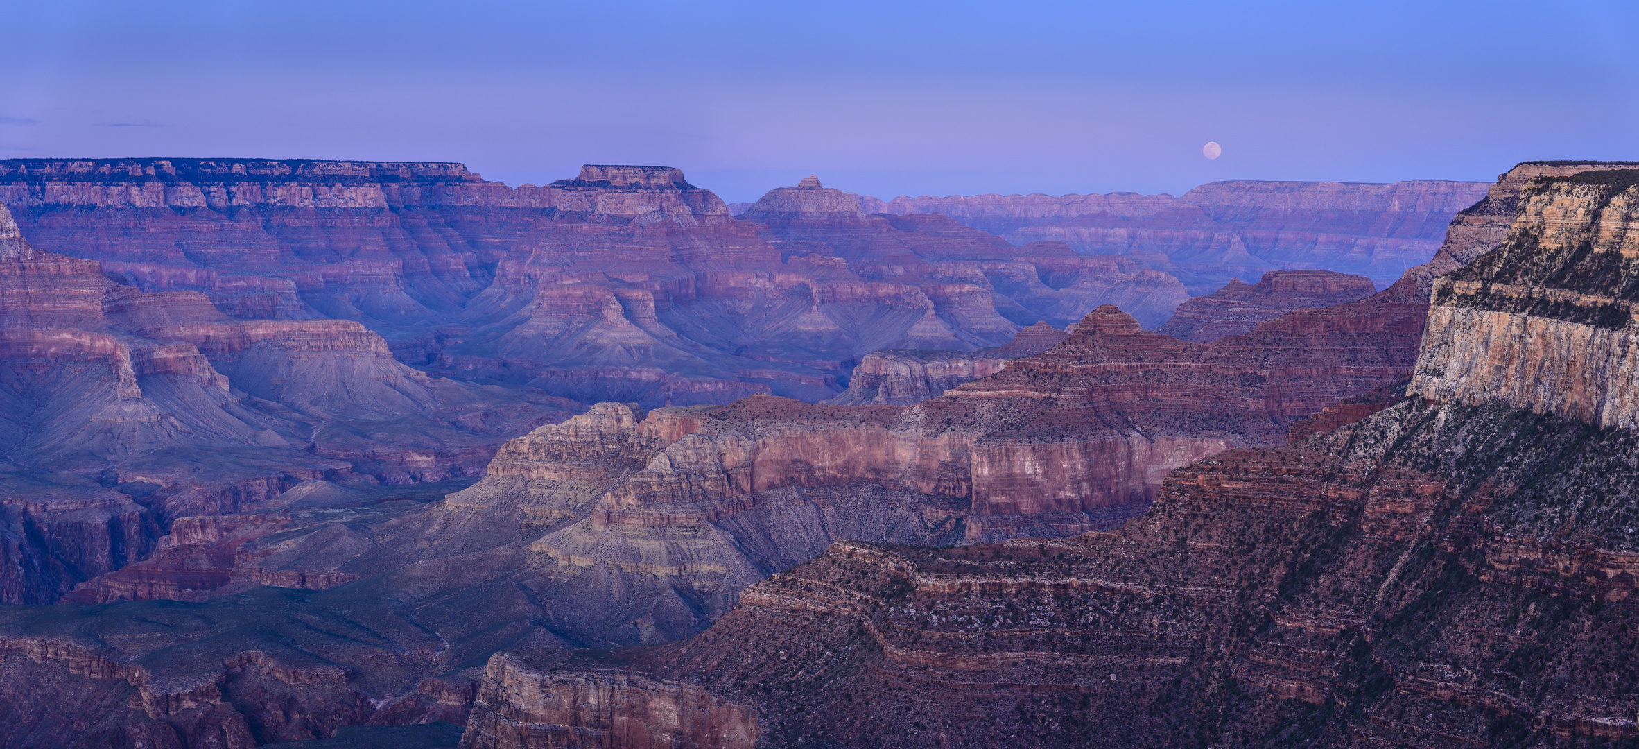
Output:
<svg viewBox="0 0 1639 749">
<path fill-rule="evenodd" d="M 680 746 L 744 746 L 747 713 L 759 746 L 803 747 L 1639 739 L 1639 170 L 1575 167 L 1505 175 L 1496 244 L 1388 290 L 1432 287 L 1414 374 L 1287 444 L 1172 470 L 1116 529 L 838 541 L 695 638 L 497 656 L 461 746 L 547 746 L 521 738 L 574 719 L 529 695 L 593 679 L 715 700 Z"/>
</svg>

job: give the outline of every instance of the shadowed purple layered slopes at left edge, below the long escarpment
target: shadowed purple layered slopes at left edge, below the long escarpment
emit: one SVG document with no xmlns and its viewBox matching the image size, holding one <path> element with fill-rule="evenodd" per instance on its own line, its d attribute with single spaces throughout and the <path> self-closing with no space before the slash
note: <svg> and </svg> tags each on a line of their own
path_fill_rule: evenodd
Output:
<svg viewBox="0 0 1639 749">
<path fill-rule="evenodd" d="M 179 516 L 303 480 L 480 474 L 503 434 L 574 406 L 431 379 L 354 321 L 139 292 L 33 247 L 0 208 L 0 600 L 49 603 Z"/>
</svg>

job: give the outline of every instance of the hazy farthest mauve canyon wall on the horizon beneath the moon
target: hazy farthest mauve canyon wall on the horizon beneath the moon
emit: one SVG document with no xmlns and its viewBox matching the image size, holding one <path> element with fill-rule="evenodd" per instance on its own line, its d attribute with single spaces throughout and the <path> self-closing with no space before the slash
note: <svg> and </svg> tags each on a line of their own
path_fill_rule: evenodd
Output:
<svg viewBox="0 0 1639 749">
<path fill-rule="evenodd" d="M 880 213 L 942 213 L 1015 244 L 1123 254 L 1210 293 L 1278 269 L 1357 274 L 1385 287 L 1441 246 L 1483 182 L 1211 182 L 1172 195 L 860 197 Z"/>
</svg>

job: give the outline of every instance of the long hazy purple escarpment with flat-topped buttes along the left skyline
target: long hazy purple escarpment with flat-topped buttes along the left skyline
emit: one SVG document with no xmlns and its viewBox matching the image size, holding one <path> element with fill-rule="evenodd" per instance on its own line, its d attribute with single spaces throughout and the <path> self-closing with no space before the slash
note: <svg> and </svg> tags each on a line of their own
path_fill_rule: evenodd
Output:
<svg viewBox="0 0 1639 749">
<path fill-rule="evenodd" d="M 818 180 L 741 221 L 672 167 L 515 188 L 438 162 L 11 159 L 0 202 L 144 292 L 354 321 L 428 374 L 582 403 L 824 400 L 870 351 L 998 346 L 1100 303 L 1160 325 L 1185 298 L 1129 261 L 864 216 Z"/>
</svg>

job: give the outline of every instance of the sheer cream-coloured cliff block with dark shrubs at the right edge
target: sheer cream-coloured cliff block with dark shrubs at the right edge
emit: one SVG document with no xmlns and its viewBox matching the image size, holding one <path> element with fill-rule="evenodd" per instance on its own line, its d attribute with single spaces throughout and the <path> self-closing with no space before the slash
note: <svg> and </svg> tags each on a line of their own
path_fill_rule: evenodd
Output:
<svg viewBox="0 0 1639 749">
<path fill-rule="evenodd" d="M 1537 177 L 1518 207 L 1500 247 L 1432 282 L 1410 392 L 1639 428 L 1639 169 Z"/>
</svg>

